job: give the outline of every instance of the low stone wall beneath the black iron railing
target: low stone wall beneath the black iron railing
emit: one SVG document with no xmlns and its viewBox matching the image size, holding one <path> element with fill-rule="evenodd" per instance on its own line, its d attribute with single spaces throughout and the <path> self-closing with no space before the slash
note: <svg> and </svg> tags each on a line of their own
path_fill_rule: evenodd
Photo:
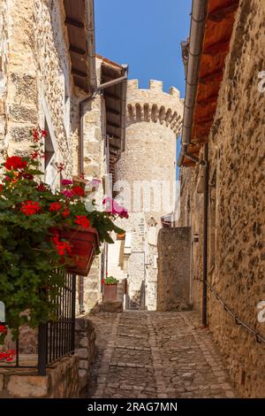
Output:
<svg viewBox="0 0 265 416">
<path fill-rule="evenodd" d="M 14 348 L 11 342 L 10 348 Z M 20 328 L 20 364 L 35 365 L 37 331 Z M 47 368 L 47 375 L 28 368 L 0 368 L 0 398 L 46 397 L 73 398 L 83 396 L 89 383 L 89 369 L 95 359 L 95 327 L 91 320 L 75 322 L 75 353 L 59 359 Z"/>
</svg>

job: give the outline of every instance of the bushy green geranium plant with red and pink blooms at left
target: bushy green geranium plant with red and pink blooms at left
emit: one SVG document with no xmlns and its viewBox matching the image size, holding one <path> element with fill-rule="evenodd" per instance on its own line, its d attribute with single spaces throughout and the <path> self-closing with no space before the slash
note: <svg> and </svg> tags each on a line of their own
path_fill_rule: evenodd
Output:
<svg viewBox="0 0 265 416">
<path fill-rule="evenodd" d="M 5 304 L 6 324 L 14 337 L 19 326 L 56 318 L 54 300 L 64 286 L 67 256 L 71 242 L 51 229 L 95 227 L 100 242 L 113 243 L 111 232 L 121 233 L 112 210 L 99 212 L 92 201 L 87 212 L 85 185 L 63 180 L 53 192 L 42 181 L 42 139 L 46 132 L 34 129 L 29 157 L 11 156 L 2 164 L 0 183 L 0 299 Z M 64 170 L 57 164 L 57 170 Z M 124 214 L 123 214 L 124 215 Z M 48 296 L 49 292 L 49 296 Z M 0 343 L 3 342 L 1 333 Z"/>
</svg>

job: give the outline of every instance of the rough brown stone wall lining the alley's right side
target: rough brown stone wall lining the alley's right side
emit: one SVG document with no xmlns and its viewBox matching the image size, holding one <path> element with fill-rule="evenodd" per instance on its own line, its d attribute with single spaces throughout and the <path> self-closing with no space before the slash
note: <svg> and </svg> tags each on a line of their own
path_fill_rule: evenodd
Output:
<svg viewBox="0 0 265 416">
<path fill-rule="evenodd" d="M 265 324 L 257 319 L 257 305 L 265 300 L 264 92 L 259 89 L 259 73 L 265 69 L 263 40 L 263 2 L 241 0 L 209 136 L 208 281 L 239 318 L 264 337 Z M 198 168 L 182 171 L 188 176 L 183 196 L 191 197 L 195 232 L 202 224 L 202 201 L 195 203 Z M 193 257 L 193 265 L 201 274 L 200 256 Z M 194 299 L 201 297 L 201 283 L 193 289 Z M 208 324 L 240 395 L 264 397 L 264 344 L 236 325 L 212 293 Z"/>
</svg>

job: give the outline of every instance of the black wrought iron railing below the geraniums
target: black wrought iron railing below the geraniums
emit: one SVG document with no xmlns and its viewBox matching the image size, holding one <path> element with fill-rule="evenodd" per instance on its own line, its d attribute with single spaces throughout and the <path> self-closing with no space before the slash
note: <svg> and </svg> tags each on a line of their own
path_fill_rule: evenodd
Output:
<svg viewBox="0 0 265 416">
<path fill-rule="evenodd" d="M 32 354 L 21 354 L 18 340 L 14 360 L 9 364 L 0 361 L 0 367 L 37 368 L 38 374 L 45 375 L 49 365 L 74 352 L 76 275 L 66 273 L 64 280 L 64 288 L 59 290 L 54 302 L 57 305 L 57 319 L 38 327 L 34 364 L 28 364 Z"/>
</svg>

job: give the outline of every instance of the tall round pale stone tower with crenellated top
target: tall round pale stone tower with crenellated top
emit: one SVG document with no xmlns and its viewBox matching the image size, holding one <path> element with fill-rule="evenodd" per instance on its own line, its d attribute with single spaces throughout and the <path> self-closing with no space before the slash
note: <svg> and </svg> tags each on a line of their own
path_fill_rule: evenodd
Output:
<svg viewBox="0 0 265 416">
<path fill-rule="evenodd" d="M 176 181 L 182 114 L 178 89 L 167 94 L 162 81 L 150 81 L 149 89 L 128 81 L 125 152 L 117 162 L 120 182 L 114 189 L 128 206 L 129 220 L 120 221 L 125 239 L 110 245 L 108 268 L 119 281 L 127 279 L 129 308 L 156 309 L 157 233 L 161 217 L 170 214 L 166 199 Z"/>
</svg>

